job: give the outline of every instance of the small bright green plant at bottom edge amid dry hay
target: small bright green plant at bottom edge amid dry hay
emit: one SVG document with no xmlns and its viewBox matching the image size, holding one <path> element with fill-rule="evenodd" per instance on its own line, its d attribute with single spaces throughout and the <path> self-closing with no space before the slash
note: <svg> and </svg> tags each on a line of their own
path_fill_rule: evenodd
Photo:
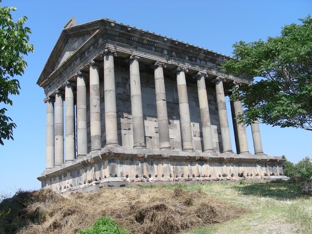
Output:
<svg viewBox="0 0 312 234">
<path fill-rule="evenodd" d="M 129 234 L 119 227 L 110 217 L 101 216 L 91 228 L 80 230 L 76 234 Z"/>
</svg>

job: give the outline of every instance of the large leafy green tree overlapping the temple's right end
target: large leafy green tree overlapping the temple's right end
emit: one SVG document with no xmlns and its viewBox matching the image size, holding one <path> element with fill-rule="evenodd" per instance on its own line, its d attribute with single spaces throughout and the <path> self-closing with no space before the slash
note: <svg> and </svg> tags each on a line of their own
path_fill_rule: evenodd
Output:
<svg viewBox="0 0 312 234">
<path fill-rule="evenodd" d="M 233 90 L 231 99 L 245 107 L 241 122 L 312 131 L 312 19 L 299 20 L 284 26 L 278 37 L 235 42 L 234 59 L 221 66 L 225 73 L 261 78 Z"/>
</svg>

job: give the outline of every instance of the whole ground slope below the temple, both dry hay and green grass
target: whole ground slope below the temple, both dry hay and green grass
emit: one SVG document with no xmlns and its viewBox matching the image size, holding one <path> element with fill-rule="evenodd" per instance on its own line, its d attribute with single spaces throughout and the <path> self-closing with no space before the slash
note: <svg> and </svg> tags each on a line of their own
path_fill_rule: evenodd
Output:
<svg viewBox="0 0 312 234">
<path fill-rule="evenodd" d="M 108 216 L 133 234 L 311 233 L 299 183 L 205 183 L 18 192 L 0 203 L 0 234 L 75 234 Z"/>
</svg>

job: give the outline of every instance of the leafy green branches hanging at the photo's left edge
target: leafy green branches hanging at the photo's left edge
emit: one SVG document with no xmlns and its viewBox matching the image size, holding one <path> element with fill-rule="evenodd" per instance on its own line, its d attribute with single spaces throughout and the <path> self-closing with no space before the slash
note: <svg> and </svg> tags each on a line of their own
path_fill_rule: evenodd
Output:
<svg viewBox="0 0 312 234">
<path fill-rule="evenodd" d="M 1 0 L 0 0 L 1 2 Z M 29 44 L 30 28 L 24 27 L 27 17 L 13 21 L 11 11 L 15 7 L 1 7 L 0 5 L 0 103 L 13 105 L 11 95 L 19 95 L 20 82 L 14 76 L 21 76 L 27 66 L 22 55 L 34 51 Z M 0 144 L 3 139 L 13 139 L 13 129 L 16 124 L 12 118 L 6 116 L 6 108 L 0 108 Z"/>
</svg>

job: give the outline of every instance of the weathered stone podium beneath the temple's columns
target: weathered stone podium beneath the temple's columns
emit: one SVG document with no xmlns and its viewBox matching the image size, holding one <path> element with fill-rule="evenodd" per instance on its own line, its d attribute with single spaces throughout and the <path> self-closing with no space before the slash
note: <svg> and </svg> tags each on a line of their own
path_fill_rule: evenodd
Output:
<svg viewBox="0 0 312 234">
<path fill-rule="evenodd" d="M 237 155 L 115 146 L 93 151 L 46 170 L 38 179 L 42 188 L 62 193 L 90 186 L 125 186 L 136 182 L 285 179 L 282 170 L 284 161 L 280 156 L 264 154 Z"/>
</svg>

